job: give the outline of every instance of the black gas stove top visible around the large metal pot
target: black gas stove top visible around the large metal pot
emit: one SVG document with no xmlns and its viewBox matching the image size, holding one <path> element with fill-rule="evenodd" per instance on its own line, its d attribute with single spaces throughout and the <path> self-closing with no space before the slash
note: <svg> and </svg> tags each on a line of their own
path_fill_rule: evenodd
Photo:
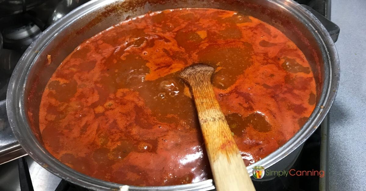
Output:
<svg viewBox="0 0 366 191">
<path fill-rule="evenodd" d="M 27 0 L 0 1 L 0 106 L 5 105 L 8 82 L 16 63 L 25 49 L 57 19 L 87 0 Z M 330 19 L 331 0 L 297 0 L 313 8 L 314 14 Z M 327 27 L 327 26 L 326 26 Z M 332 26 L 329 26 L 332 27 Z M 337 35 L 332 36 L 336 41 Z M 1 101 L 3 100 L 3 101 Z M 1 110 L 3 108 L 3 110 Z M 275 177 L 268 181 L 254 181 L 261 190 L 328 190 L 328 133 L 329 118 L 305 142 L 292 168 L 323 170 L 325 176 Z M 46 171 L 18 144 L 11 132 L 4 107 L 0 107 L 0 190 L 2 191 L 69 191 L 87 190 L 62 180 Z"/>
</svg>

